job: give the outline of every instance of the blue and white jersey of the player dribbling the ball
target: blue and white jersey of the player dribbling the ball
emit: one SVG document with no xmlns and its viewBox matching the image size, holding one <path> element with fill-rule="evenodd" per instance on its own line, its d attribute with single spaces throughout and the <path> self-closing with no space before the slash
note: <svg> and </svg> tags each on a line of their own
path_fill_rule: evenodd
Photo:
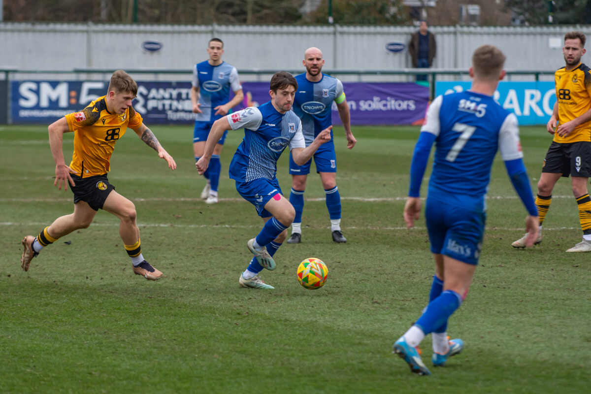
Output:
<svg viewBox="0 0 591 394">
<path fill-rule="evenodd" d="M 272 180 L 286 146 L 305 148 L 300 118 L 291 110 L 277 112 L 270 101 L 227 116 L 232 130 L 244 128 L 244 138 L 230 162 L 230 178 L 237 182 Z"/>
</svg>

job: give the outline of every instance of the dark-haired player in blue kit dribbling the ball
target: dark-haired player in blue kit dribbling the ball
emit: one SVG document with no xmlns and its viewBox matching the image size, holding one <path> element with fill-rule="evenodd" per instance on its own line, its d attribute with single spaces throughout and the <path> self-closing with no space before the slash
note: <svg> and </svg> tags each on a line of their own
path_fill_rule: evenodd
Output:
<svg viewBox="0 0 591 394">
<path fill-rule="evenodd" d="M 277 160 L 289 146 L 294 161 L 304 164 L 320 145 L 330 141 L 332 129 L 332 126 L 327 127 L 306 146 L 300 118 L 291 110 L 296 79 L 286 71 L 279 71 L 272 76 L 270 89 L 271 101 L 215 121 L 203 156 L 195 164 L 199 174 L 203 174 L 223 132 L 228 128 L 244 128 L 244 138 L 230 162 L 229 172 L 230 178 L 236 181 L 238 193 L 255 206 L 265 222 L 261 232 L 247 243 L 254 258 L 239 278 L 242 287 L 257 289 L 274 288 L 263 282 L 258 273 L 263 268 L 275 269 L 273 255 L 287 238 L 287 228 L 296 216 L 291 203 L 282 196 L 276 177 Z"/>
</svg>

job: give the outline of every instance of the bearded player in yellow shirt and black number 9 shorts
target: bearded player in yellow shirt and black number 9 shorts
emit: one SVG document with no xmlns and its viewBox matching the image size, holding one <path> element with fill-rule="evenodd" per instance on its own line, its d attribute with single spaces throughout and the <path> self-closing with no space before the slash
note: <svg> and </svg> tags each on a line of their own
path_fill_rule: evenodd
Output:
<svg viewBox="0 0 591 394">
<path fill-rule="evenodd" d="M 571 176 L 583 240 L 567 252 L 591 252 L 591 198 L 587 193 L 587 179 L 591 177 L 591 69 L 581 63 L 584 46 L 582 32 L 564 35 L 562 52 L 566 66 L 554 73 L 556 103 L 546 125 L 554 138 L 544 159 L 535 198 L 540 217 L 540 233 L 535 242 L 538 244 L 542 241 L 542 223 L 550 208 L 554 185 L 560 177 Z M 525 236 L 511 245 L 525 248 Z"/>
</svg>

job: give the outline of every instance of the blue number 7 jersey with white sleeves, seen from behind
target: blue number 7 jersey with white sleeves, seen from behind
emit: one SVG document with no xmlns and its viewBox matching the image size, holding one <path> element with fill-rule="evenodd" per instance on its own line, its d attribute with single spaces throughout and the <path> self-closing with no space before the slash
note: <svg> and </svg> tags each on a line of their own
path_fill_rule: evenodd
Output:
<svg viewBox="0 0 591 394">
<path fill-rule="evenodd" d="M 433 100 L 421 132 L 436 142 L 428 194 L 454 205 L 484 210 L 496 151 L 504 161 L 523 157 L 515 115 L 469 90 Z"/>
</svg>

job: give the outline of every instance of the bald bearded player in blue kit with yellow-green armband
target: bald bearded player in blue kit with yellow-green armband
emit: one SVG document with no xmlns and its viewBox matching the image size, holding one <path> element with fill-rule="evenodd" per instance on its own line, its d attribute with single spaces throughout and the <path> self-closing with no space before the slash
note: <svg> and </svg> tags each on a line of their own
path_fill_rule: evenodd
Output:
<svg viewBox="0 0 591 394">
<path fill-rule="evenodd" d="M 343 84 L 340 80 L 322 73 L 324 59 L 322 51 L 318 48 L 311 47 L 304 52 L 303 64 L 306 72 L 296 76 L 298 89 L 294 100 L 294 112 L 301 119 L 306 146 L 314 141 L 318 133 L 332 125 L 332 104 L 335 102 L 340 121 L 345 128 L 347 148 L 353 149 L 357 140 L 351 132 L 349 106 L 343 92 Z M 314 154 L 314 164 L 326 194 L 333 241 L 345 243 L 347 239 L 340 229 L 341 205 L 339 188 L 336 186 L 335 143 L 332 135 L 330 137 L 330 142 L 320 146 Z M 301 214 L 304 210 L 304 191 L 311 162 L 310 159 L 305 164 L 298 165 L 290 155 L 290 203 L 296 209 L 296 218 L 291 225 L 291 237 L 287 243 L 301 242 Z"/>
</svg>

